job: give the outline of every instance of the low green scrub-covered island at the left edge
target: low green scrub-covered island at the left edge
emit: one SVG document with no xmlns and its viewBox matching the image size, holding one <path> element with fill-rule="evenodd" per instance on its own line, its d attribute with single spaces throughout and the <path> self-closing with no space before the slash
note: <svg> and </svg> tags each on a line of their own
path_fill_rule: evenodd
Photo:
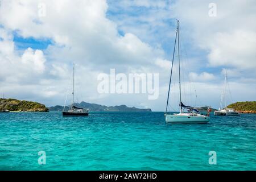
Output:
<svg viewBox="0 0 256 182">
<path fill-rule="evenodd" d="M 38 102 L 19 101 L 14 98 L 0 98 L 0 111 L 48 112 L 48 108 Z"/>
</svg>

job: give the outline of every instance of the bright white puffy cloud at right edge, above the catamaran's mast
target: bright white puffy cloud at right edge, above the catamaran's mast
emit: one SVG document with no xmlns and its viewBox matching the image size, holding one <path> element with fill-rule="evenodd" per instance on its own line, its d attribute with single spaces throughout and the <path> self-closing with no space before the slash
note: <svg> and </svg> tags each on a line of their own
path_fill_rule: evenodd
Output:
<svg viewBox="0 0 256 182">
<path fill-rule="evenodd" d="M 209 63 L 212 66 L 256 69 L 255 32 L 220 32 L 214 35 L 209 48 Z"/>
</svg>

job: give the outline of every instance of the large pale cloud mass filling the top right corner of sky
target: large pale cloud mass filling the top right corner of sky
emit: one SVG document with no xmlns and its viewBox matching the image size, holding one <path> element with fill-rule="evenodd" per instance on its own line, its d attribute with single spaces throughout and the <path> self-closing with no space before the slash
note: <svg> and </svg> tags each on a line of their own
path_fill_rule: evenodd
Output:
<svg viewBox="0 0 256 182">
<path fill-rule="evenodd" d="M 255 2 L 214 1 L 217 16 L 210 17 L 211 2 L 176 1 L 173 16 L 180 19 L 181 30 L 193 39 L 193 45 L 208 52 L 210 67 L 255 69 Z"/>
</svg>

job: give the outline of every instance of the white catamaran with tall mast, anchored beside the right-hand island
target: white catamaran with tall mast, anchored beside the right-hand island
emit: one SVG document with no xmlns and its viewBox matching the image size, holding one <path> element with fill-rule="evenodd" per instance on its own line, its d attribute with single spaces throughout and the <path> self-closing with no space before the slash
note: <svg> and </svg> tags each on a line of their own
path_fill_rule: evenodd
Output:
<svg viewBox="0 0 256 182">
<path fill-rule="evenodd" d="M 227 71 L 226 71 L 227 72 Z M 225 84 L 224 84 L 224 93 L 221 94 L 221 102 L 220 107 L 218 107 L 217 111 L 214 111 L 214 115 L 232 115 L 232 116 L 238 116 L 240 115 L 237 111 L 235 111 L 233 108 L 226 107 L 226 83 L 227 83 L 227 73 L 225 73 Z M 222 107 L 222 100 L 224 95 L 224 109 L 221 109 Z"/>
</svg>

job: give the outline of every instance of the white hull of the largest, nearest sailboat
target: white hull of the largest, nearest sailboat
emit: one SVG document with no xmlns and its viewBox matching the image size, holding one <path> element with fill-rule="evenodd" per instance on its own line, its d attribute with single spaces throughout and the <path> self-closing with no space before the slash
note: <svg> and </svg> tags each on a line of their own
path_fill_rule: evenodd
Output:
<svg viewBox="0 0 256 182">
<path fill-rule="evenodd" d="M 166 122 L 171 124 L 206 124 L 210 121 L 210 117 L 207 116 L 190 116 L 190 115 L 175 115 L 167 114 Z"/>
</svg>

